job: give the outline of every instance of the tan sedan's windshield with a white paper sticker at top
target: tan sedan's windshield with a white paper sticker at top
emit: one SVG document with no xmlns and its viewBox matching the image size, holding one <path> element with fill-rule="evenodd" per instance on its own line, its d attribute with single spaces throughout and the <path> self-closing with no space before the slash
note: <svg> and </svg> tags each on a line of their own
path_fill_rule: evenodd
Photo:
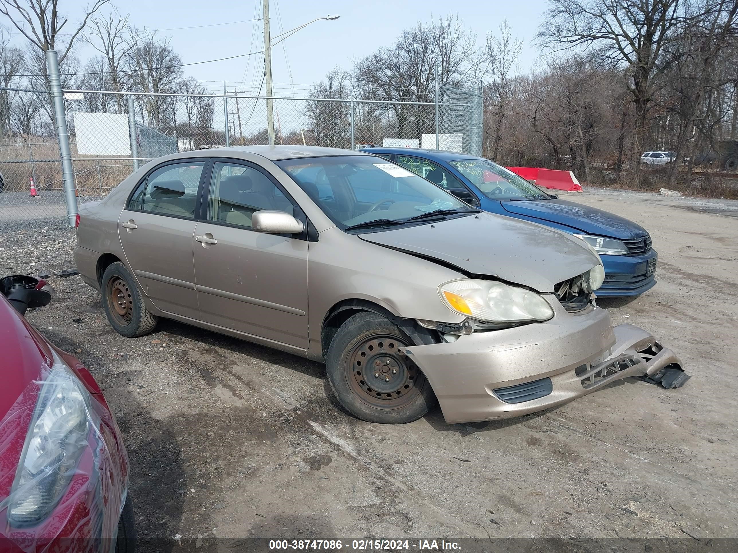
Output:
<svg viewBox="0 0 738 553">
<path fill-rule="evenodd" d="M 275 161 L 339 228 L 382 228 L 477 213 L 455 196 L 375 156 Z"/>
</svg>

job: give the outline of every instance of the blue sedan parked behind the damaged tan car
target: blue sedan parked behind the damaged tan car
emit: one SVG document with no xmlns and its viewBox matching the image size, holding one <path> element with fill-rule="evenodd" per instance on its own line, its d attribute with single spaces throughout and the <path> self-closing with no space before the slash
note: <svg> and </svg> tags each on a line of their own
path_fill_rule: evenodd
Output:
<svg viewBox="0 0 738 553">
<path fill-rule="evenodd" d="M 559 200 L 524 178 L 477 156 L 440 150 L 366 148 L 444 187 L 485 211 L 529 220 L 581 238 L 600 254 L 599 297 L 638 296 L 656 284 L 658 254 L 648 232 L 601 209 Z"/>
</svg>

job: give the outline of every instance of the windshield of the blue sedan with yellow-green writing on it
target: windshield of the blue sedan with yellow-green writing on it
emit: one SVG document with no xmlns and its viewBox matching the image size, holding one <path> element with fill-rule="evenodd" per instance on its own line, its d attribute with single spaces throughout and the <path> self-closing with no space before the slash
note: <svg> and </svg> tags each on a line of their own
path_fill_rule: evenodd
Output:
<svg viewBox="0 0 738 553">
<path fill-rule="evenodd" d="M 460 159 L 449 164 L 493 200 L 548 200 L 534 184 L 487 159 Z"/>
</svg>

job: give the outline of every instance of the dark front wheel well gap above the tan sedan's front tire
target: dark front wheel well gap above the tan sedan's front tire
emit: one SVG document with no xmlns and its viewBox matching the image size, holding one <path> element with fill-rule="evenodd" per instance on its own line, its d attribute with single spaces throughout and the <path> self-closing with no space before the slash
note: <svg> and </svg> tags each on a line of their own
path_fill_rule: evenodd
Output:
<svg viewBox="0 0 738 553">
<path fill-rule="evenodd" d="M 435 344 L 438 342 L 438 335 L 435 335 L 435 331 L 421 327 L 415 319 L 398 317 L 387 308 L 366 299 L 345 299 L 331 307 L 325 315 L 325 319 L 323 319 L 323 327 L 320 330 L 320 345 L 324 359 L 328 355 L 328 347 L 331 346 L 331 341 L 333 341 L 341 325 L 345 321 L 348 321 L 351 316 L 362 311 L 378 313 L 383 317 L 387 317 L 387 319 L 400 327 L 416 345 Z"/>
</svg>

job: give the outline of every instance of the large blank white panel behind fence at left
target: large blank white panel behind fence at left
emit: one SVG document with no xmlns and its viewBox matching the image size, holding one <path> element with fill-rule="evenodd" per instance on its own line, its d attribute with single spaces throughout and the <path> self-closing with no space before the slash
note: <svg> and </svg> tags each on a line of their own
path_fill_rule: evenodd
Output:
<svg viewBox="0 0 738 553">
<path fill-rule="evenodd" d="M 78 156 L 130 156 L 131 135 L 126 114 L 75 111 Z"/>
</svg>

